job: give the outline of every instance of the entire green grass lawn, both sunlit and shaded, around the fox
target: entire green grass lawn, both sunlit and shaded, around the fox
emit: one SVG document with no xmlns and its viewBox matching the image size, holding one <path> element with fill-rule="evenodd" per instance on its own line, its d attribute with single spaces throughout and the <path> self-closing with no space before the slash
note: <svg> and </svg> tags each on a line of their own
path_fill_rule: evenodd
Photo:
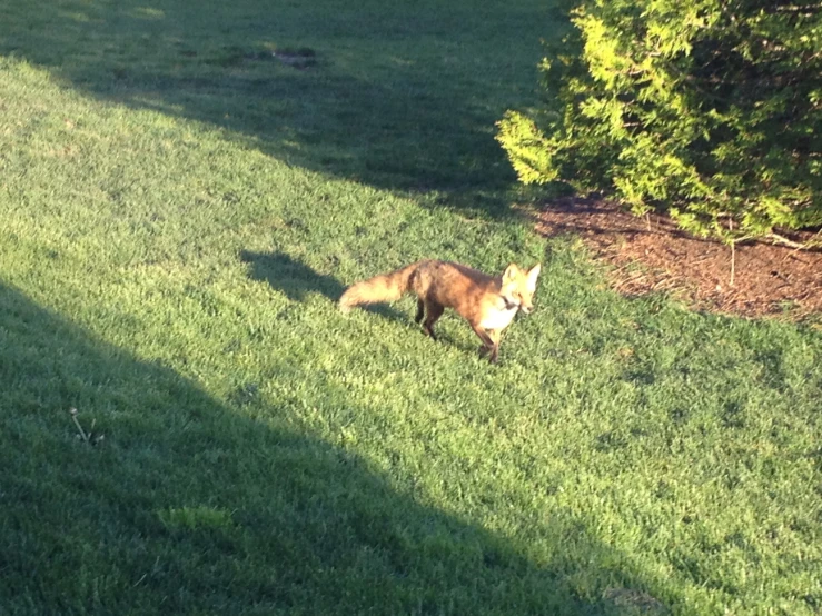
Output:
<svg viewBox="0 0 822 616">
<path fill-rule="evenodd" d="M 0 7 L 0 614 L 822 609 L 822 336 L 507 215 L 548 7 L 182 4 Z M 499 366 L 336 309 L 422 257 L 543 261 Z"/>
</svg>

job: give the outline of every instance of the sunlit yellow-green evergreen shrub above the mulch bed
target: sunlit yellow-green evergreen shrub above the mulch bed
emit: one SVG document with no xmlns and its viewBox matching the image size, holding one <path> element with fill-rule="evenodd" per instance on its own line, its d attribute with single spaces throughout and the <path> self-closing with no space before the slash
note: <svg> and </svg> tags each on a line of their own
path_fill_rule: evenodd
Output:
<svg viewBox="0 0 822 616">
<path fill-rule="evenodd" d="M 726 241 L 822 225 L 822 7 L 582 0 L 548 43 L 544 107 L 497 139 L 523 182 L 667 208 Z"/>
</svg>

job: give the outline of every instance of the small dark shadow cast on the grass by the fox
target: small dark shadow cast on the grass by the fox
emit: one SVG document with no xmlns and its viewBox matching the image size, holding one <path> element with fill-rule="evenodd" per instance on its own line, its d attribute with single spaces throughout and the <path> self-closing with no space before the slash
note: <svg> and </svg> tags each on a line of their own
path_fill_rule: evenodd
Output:
<svg viewBox="0 0 822 616">
<path fill-rule="evenodd" d="M 319 274 L 285 252 L 242 250 L 240 259 L 250 265 L 249 276 L 254 280 L 268 282 L 273 289 L 286 294 L 293 301 L 305 301 L 308 294 L 317 292 L 336 304 L 346 289 L 345 285 L 334 276 Z M 387 319 L 414 322 L 410 316 L 385 305 L 364 306 L 363 308 Z"/>
</svg>

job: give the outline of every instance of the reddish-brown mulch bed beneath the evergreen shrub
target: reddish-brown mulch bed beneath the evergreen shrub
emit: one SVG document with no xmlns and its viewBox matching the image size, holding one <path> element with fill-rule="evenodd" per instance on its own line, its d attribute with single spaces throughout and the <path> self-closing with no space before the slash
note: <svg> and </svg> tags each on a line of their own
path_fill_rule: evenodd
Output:
<svg viewBox="0 0 822 616">
<path fill-rule="evenodd" d="M 604 199 L 563 198 L 537 215 L 545 236 L 574 234 L 613 266 L 610 280 L 628 296 L 665 291 L 703 310 L 802 320 L 822 314 L 822 250 L 750 242 L 731 249 L 680 230 L 667 217 L 637 218 Z M 803 241 L 812 234 L 796 234 Z"/>
</svg>

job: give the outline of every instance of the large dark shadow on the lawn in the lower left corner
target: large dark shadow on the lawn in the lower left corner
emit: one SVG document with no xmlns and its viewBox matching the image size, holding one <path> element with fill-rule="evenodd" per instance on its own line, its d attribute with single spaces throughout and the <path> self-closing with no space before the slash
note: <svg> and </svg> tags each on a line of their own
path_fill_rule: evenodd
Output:
<svg viewBox="0 0 822 616">
<path fill-rule="evenodd" d="M 573 547 L 537 566 L 254 390 L 221 403 L 2 285 L 0 380 L 10 614 L 626 614 L 647 597 L 571 517 L 555 530 Z M 75 437 L 71 407 L 103 441 Z M 581 578 L 621 588 L 585 599 Z"/>
</svg>

